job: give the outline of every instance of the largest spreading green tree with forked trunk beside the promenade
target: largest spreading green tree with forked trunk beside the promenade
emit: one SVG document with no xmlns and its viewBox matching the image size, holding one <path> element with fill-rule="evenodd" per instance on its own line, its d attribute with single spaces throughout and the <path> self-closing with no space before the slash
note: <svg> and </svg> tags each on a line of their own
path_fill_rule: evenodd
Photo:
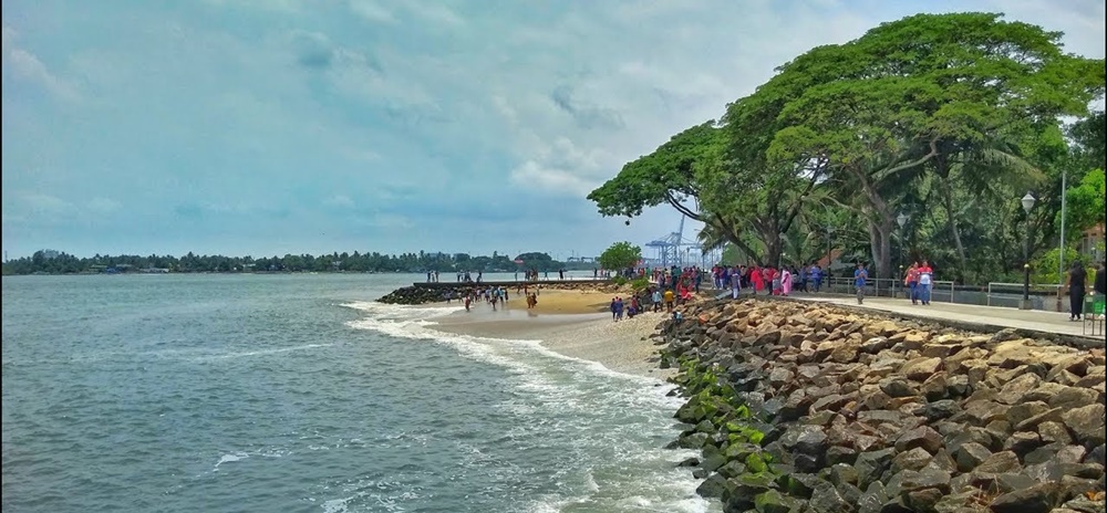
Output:
<svg viewBox="0 0 1107 513">
<path fill-rule="evenodd" d="M 939 169 L 939 205 L 960 245 L 951 160 L 989 155 L 982 150 L 1003 146 L 1010 132 L 1086 114 L 1101 94 L 1101 60 L 1064 54 L 1059 33 L 1000 18 L 918 14 L 884 23 L 852 42 L 801 55 L 767 84 L 788 98 L 780 111 L 788 126 L 774 137 L 770 157 L 829 159 L 831 179 L 842 188 L 838 196 L 856 197 L 852 207 L 868 222 L 879 276 L 890 276 L 904 186 L 928 167 Z"/>
</svg>

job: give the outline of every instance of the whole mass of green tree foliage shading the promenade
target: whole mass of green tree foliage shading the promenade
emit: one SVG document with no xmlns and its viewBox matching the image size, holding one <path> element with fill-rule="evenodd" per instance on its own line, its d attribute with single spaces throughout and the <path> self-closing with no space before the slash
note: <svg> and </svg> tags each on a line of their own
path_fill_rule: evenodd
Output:
<svg viewBox="0 0 1107 513">
<path fill-rule="evenodd" d="M 1089 213 L 1103 113 L 1088 105 L 1103 98 L 1104 61 L 1065 53 L 1061 36 L 994 13 L 880 24 L 785 63 L 720 123 L 677 134 L 588 198 L 604 216 L 672 205 L 707 226 L 705 247 L 758 263 L 832 243 L 881 278 L 920 256 L 946 278 L 1002 278 L 1026 259 L 1027 226 L 1034 251 L 1051 245 L 1062 175 L 1076 185 L 1072 232 L 1103 222 Z"/>
</svg>

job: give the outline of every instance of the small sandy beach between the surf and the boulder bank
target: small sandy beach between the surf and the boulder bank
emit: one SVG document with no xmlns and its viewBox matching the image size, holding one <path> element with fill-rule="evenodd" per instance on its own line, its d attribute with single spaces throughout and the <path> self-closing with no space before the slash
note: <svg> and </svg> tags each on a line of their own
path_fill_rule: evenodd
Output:
<svg viewBox="0 0 1107 513">
<path fill-rule="evenodd" d="M 649 339 L 665 318 L 664 313 L 624 317 L 617 323 L 608 310 L 612 294 L 544 290 L 534 310 L 527 310 L 521 296 L 511 297 L 507 308 L 496 312 L 479 302 L 470 312 L 442 317 L 438 328 L 483 337 L 541 341 L 555 352 L 597 362 L 611 370 L 659 380 L 672 375 L 671 369 L 658 367 L 659 346 Z"/>
</svg>

